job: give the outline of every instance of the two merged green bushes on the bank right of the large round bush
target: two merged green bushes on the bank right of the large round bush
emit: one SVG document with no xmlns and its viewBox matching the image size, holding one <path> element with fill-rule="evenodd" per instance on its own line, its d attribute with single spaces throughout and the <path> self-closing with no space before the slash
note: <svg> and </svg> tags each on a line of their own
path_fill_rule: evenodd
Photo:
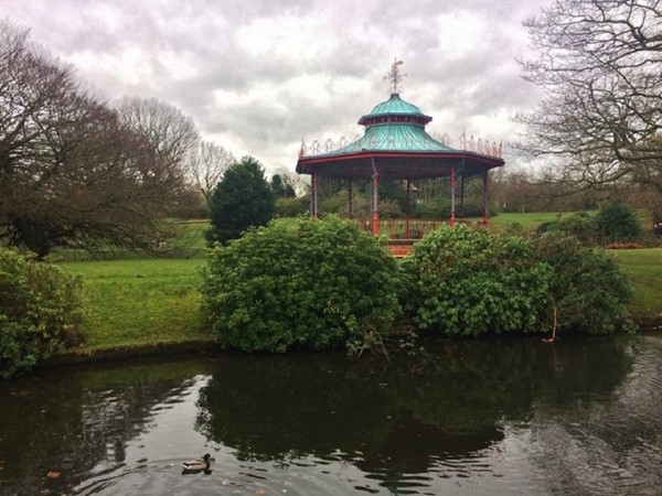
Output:
<svg viewBox="0 0 662 496">
<path fill-rule="evenodd" d="M 632 298 L 602 250 L 555 229 L 526 240 L 445 227 L 426 236 L 404 268 L 407 310 L 420 328 L 446 334 L 607 333 Z"/>
</svg>

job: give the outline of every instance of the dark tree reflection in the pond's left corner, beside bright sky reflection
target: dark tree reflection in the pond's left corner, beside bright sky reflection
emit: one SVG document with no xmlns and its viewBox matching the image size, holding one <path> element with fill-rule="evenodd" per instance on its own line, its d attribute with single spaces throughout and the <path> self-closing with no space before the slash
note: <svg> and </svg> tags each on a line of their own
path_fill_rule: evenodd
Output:
<svg viewBox="0 0 662 496">
<path fill-rule="evenodd" d="M 56 494 L 121 466 L 127 441 L 192 380 L 182 380 L 188 365 L 154 365 L 58 368 L 0 384 L 0 494 Z"/>
</svg>

